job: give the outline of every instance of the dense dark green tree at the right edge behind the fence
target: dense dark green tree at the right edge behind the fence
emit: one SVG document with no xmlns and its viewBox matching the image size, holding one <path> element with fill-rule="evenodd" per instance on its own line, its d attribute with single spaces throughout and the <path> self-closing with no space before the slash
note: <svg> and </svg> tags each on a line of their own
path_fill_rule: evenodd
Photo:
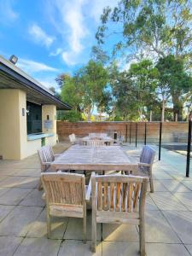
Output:
<svg viewBox="0 0 192 256">
<path fill-rule="evenodd" d="M 186 94 L 192 90 L 192 78 L 185 72 L 183 60 L 174 55 L 160 58 L 156 67 L 160 73 L 162 99 L 166 101 L 169 96 L 172 97 L 174 119 L 177 114 L 178 119 L 182 120 L 183 102 L 186 101 Z"/>
</svg>

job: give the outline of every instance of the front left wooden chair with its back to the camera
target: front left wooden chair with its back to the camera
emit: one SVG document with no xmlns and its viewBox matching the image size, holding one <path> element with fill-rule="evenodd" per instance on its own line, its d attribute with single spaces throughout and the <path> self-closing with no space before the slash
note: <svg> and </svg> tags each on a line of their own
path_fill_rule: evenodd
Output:
<svg viewBox="0 0 192 256">
<path fill-rule="evenodd" d="M 85 187 L 84 175 L 57 172 L 42 173 L 47 207 L 47 234 L 50 237 L 51 216 L 84 218 L 86 242 L 86 201 L 90 201 L 90 185 Z"/>
</svg>

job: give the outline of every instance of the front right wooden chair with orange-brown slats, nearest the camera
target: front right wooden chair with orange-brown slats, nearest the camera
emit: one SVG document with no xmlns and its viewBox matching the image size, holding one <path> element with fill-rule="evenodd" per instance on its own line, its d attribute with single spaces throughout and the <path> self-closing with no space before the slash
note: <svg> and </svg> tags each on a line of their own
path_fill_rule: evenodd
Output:
<svg viewBox="0 0 192 256">
<path fill-rule="evenodd" d="M 140 253 L 145 255 L 147 186 L 148 177 L 92 175 L 92 252 L 96 252 L 96 223 L 134 224 L 139 226 Z"/>
</svg>

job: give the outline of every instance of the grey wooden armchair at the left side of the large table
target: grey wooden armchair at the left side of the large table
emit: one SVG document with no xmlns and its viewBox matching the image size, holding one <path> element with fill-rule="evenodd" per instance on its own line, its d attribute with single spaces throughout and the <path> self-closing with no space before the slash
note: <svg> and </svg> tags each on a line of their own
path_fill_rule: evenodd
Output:
<svg viewBox="0 0 192 256">
<path fill-rule="evenodd" d="M 59 156 L 59 154 L 54 154 L 53 148 L 50 145 L 40 148 L 38 150 L 38 159 L 41 165 L 41 172 L 55 172 L 50 168 L 50 164 L 57 156 Z M 38 189 L 42 189 L 41 179 L 39 181 Z"/>
</svg>

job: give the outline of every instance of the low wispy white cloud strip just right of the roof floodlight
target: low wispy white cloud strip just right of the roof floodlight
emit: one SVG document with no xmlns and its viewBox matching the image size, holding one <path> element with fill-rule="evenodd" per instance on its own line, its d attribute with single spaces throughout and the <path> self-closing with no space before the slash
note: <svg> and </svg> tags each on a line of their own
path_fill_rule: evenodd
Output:
<svg viewBox="0 0 192 256">
<path fill-rule="evenodd" d="M 25 59 L 19 59 L 17 66 L 29 74 L 38 72 L 59 72 L 59 69 L 55 67 L 49 67 L 44 63 Z"/>
</svg>

